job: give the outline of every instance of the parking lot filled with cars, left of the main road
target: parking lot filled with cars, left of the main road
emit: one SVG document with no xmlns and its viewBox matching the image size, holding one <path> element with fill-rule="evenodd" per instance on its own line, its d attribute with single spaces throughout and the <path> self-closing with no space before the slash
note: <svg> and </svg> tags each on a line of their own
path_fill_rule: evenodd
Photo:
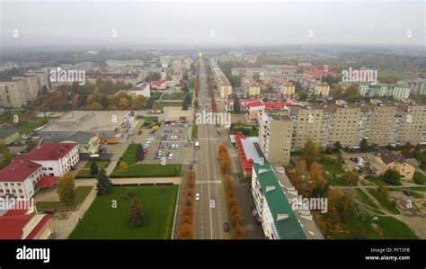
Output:
<svg viewBox="0 0 426 269">
<path fill-rule="evenodd" d="M 190 123 L 163 122 L 146 139 L 145 164 L 184 164 L 191 160 Z"/>
</svg>

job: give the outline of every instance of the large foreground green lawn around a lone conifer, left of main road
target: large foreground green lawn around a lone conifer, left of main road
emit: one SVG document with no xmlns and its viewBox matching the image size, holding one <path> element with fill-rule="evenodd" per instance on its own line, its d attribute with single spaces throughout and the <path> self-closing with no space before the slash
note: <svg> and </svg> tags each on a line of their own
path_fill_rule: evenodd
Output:
<svg viewBox="0 0 426 269">
<path fill-rule="evenodd" d="M 114 187 L 109 195 L 98 196 L 69 239 L 170 239 L 174 221 L 178 185 Z M 145 223 L 129 224 L 127 193 L 141 202 Z M 116 201 L 117 208 L 111 206 Z"/>
</svg>

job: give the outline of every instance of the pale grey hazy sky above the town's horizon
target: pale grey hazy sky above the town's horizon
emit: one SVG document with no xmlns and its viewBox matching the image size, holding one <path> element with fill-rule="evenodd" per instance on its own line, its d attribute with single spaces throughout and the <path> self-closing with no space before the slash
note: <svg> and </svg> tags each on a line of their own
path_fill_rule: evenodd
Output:
<svg viewBox="0 0 426 269">
<path fill-rule="evenodd" d="M 422 0 L 0 0 L 0 17 L 4 46 L 426 43 Z"/>
</svg>

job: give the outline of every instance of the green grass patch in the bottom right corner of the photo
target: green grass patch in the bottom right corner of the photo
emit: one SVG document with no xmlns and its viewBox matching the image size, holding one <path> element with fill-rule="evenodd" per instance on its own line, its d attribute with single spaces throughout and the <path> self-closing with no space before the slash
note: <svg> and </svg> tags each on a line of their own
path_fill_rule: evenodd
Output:
<svg viewBox="0 0 426 269">
<path fill-rule="evenodd" d="M 343 229 L 352 230 L 359 238 L 366 239 L 418 239 L 408 226 L 393 217 L 378 216 L 373 220 L 372 216 L 358 216 L 355 220 L 344 224 Z M 337 238 L 351 238 L 347 233 L 342 233 Z"/>
</svg>

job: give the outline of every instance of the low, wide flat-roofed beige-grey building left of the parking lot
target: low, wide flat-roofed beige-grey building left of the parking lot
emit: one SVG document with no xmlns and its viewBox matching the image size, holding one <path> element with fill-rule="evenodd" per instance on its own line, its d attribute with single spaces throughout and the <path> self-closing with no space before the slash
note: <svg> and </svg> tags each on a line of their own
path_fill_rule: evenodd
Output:
<svg viewBox="0 0 426 269">
<path fill-rule="evenodd" d="M 134 118 L 129 111 L 73 111 L 39 130 L 40 138 L 64 138 L 75 131 L 99 135 L 102 143 L 127 138 Z"/>
</svg>

